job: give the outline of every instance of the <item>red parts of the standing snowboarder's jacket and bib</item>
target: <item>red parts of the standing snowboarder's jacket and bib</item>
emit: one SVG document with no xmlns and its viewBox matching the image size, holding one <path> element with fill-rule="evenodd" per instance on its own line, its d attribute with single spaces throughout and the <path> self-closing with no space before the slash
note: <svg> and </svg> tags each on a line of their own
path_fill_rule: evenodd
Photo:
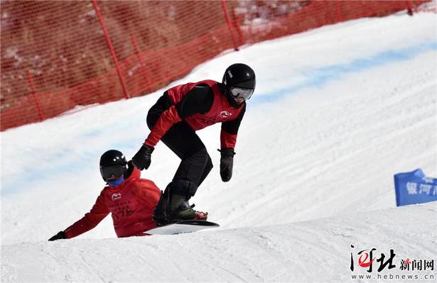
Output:
<svg viewBox="0 0 437 283">
<path fill-rule="evenodd" d="M 215 123 L 227 122 L 236 119 L 242 108 L 234 108 L 227 101 L 226 97 L 221 93 L 217 82 L 206 79 L 204 81 L 180 84 L 176 87 L 168 89 L 168 97 L 171 99 L 172 106 L 170 109 L 163 111 L 161 116 L 156 121 L 155 126 L 153 126 L 151 133 L 146 138 L 144 144 L 154 147 L 156 143 L 165 135 L 168 129 L 173 126 L 173 124 L 182 121 L 178 111 L 176 110 L 176 105 L 188 94 L 188 92 L 193 89 L 198 84 L 207 84 L 211 87 L 214 93 L 214 102 L 210 111 L 207 113 L 197 113 L 193 116 L 185 118 L 185 123 L 188 123 L 190 128 L 194 131 L 198 131 L 207 126 L 211 126 Z M 237 135 L 227 133 L 226 131 L 221 131 L 220 133 L 221 148 L 234 148 L 237 141 Z"/>
</svg>

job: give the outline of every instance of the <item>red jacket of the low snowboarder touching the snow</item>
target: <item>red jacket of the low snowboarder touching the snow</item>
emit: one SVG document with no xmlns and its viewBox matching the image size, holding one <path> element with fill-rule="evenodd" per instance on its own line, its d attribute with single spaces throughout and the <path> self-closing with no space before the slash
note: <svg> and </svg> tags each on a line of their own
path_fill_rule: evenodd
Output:
<svg viewBox="0 0 437 283">
<path fill-rule="evenodd" d="M 140 179 L 141 172 L 132 174 L 119 187 L 104 187 L 90 212 L 65 229 L 67 238 L 90 231 L 112 213 L 114 230 L 118 237 L 144 235 L 141 232 L 156 227 L 153 209 L 158 204 L 161 190 L 151 180 Z"/>
</svg>

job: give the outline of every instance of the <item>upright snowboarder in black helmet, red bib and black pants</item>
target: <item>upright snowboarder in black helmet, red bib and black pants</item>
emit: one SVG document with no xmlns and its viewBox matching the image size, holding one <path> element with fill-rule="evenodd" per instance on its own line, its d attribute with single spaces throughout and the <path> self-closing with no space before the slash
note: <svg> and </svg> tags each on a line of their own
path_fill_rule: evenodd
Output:
<svg viewBox="0 0 437 283">
<path fill-rule="evenodd" d="M 147 115 L 151 133 L 132 157 L 132 163 L 139 170 L 149 168 L 159 140 L 181 159 L 153 212 L 158 225 L 183 219 L 206 220 L 207 213 L 193 210 L 188 203 L 212 170 L 211 157 L 195 131 L 222 123 L 220 176 L 223 182 L 228 182 L 232 177 L 239 125 L 255 85 L 251 67 L 233 64 L 225 70 L 222 83 L 207 79 L 172 87 L 151 107 Z"/>
</svg>

